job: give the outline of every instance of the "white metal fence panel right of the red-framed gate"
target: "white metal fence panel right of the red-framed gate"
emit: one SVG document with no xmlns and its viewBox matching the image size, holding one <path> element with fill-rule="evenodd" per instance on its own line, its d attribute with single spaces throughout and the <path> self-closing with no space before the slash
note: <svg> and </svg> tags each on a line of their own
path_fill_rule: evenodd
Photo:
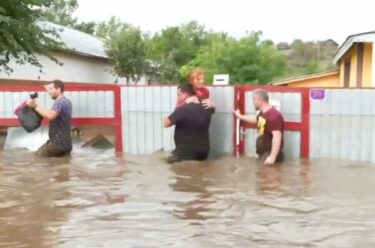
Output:
<svg viewBox="0 0 375 248">
<path fill-rule="evenodd" d="M 311 157 L 375 162 L 374 119 L 374 89 L 325 90 L 311 99 Z"/>
</svg>

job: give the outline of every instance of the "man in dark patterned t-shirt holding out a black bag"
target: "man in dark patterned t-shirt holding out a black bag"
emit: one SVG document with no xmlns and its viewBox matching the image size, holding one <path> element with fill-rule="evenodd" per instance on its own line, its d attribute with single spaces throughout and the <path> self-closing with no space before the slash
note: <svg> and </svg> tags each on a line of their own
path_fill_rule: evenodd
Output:
<svg viewBox="0 0 375 248">
<path fill-rule="evenodd" d="M 49 120 L 49 140 L 39 148 L 37 155 L 42 157 L 62 157 L 72 151 L 70 127 L 72 118 L 72 104 L 64 97 L 64 83 L 55 80 L 46 86 L 46 89 L 55 102 L 52 109 L 47 110 L 29 99 L 27 105 L 34 108 L 41 116 Z"/>
</svg>

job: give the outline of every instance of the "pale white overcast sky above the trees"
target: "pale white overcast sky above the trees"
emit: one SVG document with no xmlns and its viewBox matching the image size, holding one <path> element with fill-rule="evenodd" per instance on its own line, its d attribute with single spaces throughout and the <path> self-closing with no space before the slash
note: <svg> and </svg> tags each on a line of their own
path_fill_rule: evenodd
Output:
<svg viewBox="0 0 375 248">
<path fill-rule="evenodd" d="M 332 38 L 375 30 L 374 0 L 78 0 L 81 21 L 117 16 L 156 32 L 191 20 L 241 37 L 262 30 L 264 38 L 292 41 Z"/>
</svg>

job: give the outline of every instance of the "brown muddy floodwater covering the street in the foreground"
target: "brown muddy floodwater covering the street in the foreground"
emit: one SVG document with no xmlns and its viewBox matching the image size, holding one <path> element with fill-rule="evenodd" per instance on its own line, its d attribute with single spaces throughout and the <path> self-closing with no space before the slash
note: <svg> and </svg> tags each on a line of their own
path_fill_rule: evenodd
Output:
<svg viewBox="0 0 375 248">
<path fill-rule="evenodd" d="M 375 247 L 371 165 L 0 156 L 0 247 Z"/>
</svg>

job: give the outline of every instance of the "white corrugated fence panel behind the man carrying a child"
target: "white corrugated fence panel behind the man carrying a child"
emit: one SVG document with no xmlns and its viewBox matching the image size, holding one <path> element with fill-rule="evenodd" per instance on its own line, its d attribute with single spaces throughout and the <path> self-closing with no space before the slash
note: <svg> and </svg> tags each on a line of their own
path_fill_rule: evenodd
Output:
<svg viewBox="0 0 375 248">
<path fill-rule="evenodd" d="M 233 87 L 209 87 L 209 89 L 212 100 L 217 104 L 210 129 L 211 153 L 231 154 L 234 89 Z M 176 86 L 123 87 L 125 151 L 131 154 L 172 151 L 175 148 L 174 128 L 164 128 L 163 119 L 174 111 L 176 101 Z"/>
</svg>

